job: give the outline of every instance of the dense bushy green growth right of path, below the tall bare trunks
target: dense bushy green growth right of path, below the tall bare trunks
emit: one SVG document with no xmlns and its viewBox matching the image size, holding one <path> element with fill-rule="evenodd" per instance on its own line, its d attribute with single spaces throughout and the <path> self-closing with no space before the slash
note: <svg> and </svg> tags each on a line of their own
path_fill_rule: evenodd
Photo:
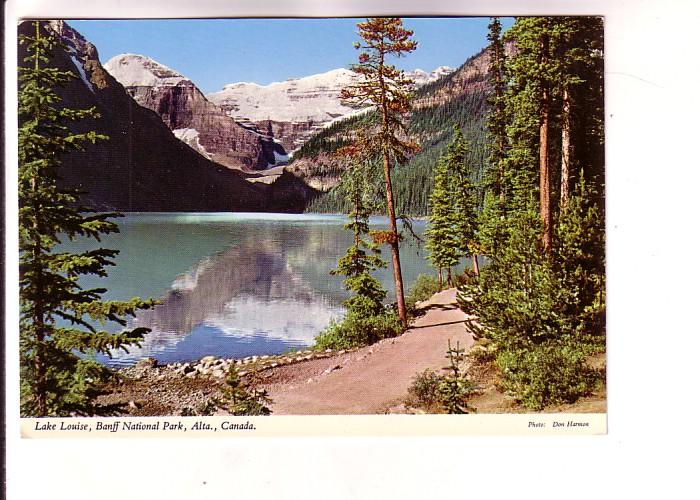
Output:
<svg viewBox="0 0 700 500">
<path fill-rule="evenodd" d="M 584 362 L 605 345 L 600 256 L 588 248 L 599 246 L 588 243 L 595 214 L 585 213 L 572 198 L 553 255 L 541 249 L 537 212 L 512 214 L 490 265 L 460 287 L 460 307 L 478 318 L 469 327 L 492 342 L 503 386 L 530 409 L 574 402 L 601 379 Z"/>
</svg>

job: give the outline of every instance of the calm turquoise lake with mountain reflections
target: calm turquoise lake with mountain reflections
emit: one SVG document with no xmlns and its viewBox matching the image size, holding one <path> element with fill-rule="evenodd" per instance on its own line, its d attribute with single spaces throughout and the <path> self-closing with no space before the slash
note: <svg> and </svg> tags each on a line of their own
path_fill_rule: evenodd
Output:
<svg viewBox="0 0 700 500">
<path fill-rule="evenodd" d="M 107 288 L 105 299 L 152 297 L 161 304 L 130 322 L 152 329 L 142 347 L 98 357 L 105 364 L 280 354 L 312 345 L 343 315 L 349 293 L 343 277 L 329 271 L 352 241 L 344 215 L 131 213 L 116 220 L 120 233 L 101 244 L 120 251 L 116 266 L 107 268 L 107 278 L 81 283 Z M 370 225 L 388 227 L 385 217 L 373 217 Z M 414 231 L 421 235 L 425 225 L 415 221 Z M 95 247 L 94 240 L 79 240 L 62 249 Z M 382 256 L 390 260 L 388 247 Z M 423 245 L 410 236 L 401 263 L 407 289 L 418 274 L 434 272 Z M 387 300 L 395 300 L 391 264 L 375 275 Z"/>
</svg>

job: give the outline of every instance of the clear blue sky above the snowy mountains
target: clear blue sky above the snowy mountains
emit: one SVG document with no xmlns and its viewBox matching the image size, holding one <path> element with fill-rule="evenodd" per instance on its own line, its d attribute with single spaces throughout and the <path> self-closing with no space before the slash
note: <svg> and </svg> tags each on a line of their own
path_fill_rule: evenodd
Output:
<svg viewBox="0 0 700 500">
<path fill-rule="evenodd" d="M 361 19 L 81 20 L 68 23 L 105 63 L 143 54 L 190 78 L 204 93 L 239 81 L 268 84 L 348 67 Z M 457 67 L 486 45 L 488 18 L 409 18 L 418 49 L 399 68 Z M 511 20 L 504 20 L 510 26 Z"/>
</svg>

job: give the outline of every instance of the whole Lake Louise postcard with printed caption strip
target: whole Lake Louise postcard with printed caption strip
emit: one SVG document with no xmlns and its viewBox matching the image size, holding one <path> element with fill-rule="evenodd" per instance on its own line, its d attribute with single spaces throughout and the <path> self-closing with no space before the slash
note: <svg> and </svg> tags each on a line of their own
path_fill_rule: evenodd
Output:
<svg viewBox="0 0 700 500">
<path fill-rule="evenodd" d="M 17 31 L 24 437 L 606 432 L 602 17 Z"/>
</svg>

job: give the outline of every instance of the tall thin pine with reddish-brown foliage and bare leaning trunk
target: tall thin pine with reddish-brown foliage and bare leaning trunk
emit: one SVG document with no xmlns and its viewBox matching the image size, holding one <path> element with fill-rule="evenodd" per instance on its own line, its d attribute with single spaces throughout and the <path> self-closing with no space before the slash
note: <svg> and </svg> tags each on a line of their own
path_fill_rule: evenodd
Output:
<svg viewBox="0 0 700 500">
<path fill-rule="evenodd" d="M 381 120 L 377 133 L 365 136 L 361 147 L 376 152 L 382 158 L 389 218 L 389 231 L 383 240 L 391 248 L 398 313 L 402 324 L 406 326 L 408 320 L 399 257 L 400 238 L 396 225 L 391 165 L 392 160 L 396 163 L 405 162 L 407 156 L 416 152 L 418 147 L 402 139 L 402 134 L 406 132 L 402 115 L 410 109 L 409 97 L 413 82 L 405 77 L 403 71 L 389 64 L 387 59 L 413 52 L 417 43 L 411 39 L 413 32 L 405 29 L 399 18 L 370 18 L 364 23 L 359 23 L 358 28 L 362 42 L 356 43 L 355 48 L 361 52 L 359 63 L 353 65 L 352 69 L 360 79 L 343 89 L 341 98 L 357 106 L 376 106 Z"/>
</svg>

